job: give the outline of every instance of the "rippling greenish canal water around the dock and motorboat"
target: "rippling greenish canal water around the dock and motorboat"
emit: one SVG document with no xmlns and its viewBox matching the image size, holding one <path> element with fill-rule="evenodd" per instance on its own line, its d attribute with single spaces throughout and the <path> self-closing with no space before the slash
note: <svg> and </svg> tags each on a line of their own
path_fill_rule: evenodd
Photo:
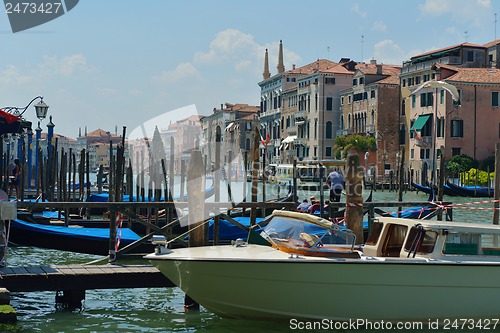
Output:
<svg viewBox="0 0 500 333">
<path fill-rule="evenodd" d="M 366 196 L 365 196 L 366 197 Z M 374 192 L 373 201 L 396 201 L 397 193 Z M 405 201 L 424 201 L 427 195 L 408 192 Z M 453 203 L 479 201 L 474 198 L 447 198 Z M 474 205 L 475 206 L 475 205 Z M 492 208 L 492 204 L 478 205 Z M 491 223 L 493 211 L 455 209 L 454 220 Z M 39 266 L 47 264 L 86 263 L 101 257 L 31 247 L 9 249 L 7 265 Z M 144 262 L 146 263 L 146 262 Z M 244 288 L 245 286 L 242 286 Z M 297 291 L 291 290 L 291 293 Z M 342 300 L 332 300 L 341 302 Z M 362 301 L 362 300 L 360 300 Z M 56 308 L 54 292 L 12 293 L 11 304 L 17 310 L 18 323 L 1 325 L 0 332 L 290 332 L 290 322 L 261 322 L 221 318 L 201 308 L 184 311 L 184 294 L 178 288 L 149 288 L 129 290 L 89 290 L 81 310 L 67 311 Z M 448 332 L 429 329 L 424 323 L 422 332 Z M 500 326 L 500 325 L 498 325 Z M 329 327 L 323 327 L 329 328 Z M 300 330 L 333 332 L 394 332 L 394 330 L 343 329 Z M 408 330 L 415 332 L 415 329 Z M 461 331 L 461 330 L 455 330 Z M 473 330 L 472 330 L 473 331 Z M 472 332 L 469 331 L 469 332 Z M 479 331 L 479 330 L 478 330 Z"/>
</svg>

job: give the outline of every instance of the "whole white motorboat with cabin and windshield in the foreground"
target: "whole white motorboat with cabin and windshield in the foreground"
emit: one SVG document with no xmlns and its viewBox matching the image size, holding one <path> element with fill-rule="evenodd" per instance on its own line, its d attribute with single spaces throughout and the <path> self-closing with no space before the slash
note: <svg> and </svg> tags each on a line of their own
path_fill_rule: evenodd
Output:
<svg viewBox="0 0 500 333">
<path fill-rule="evenodd" d="M 384 217 L 360 247 L 329 221 L 275 211 L 262 235 L 272 246 L 163 249 L 147 258 L 192 299 L 225 317 L 498 317 L 499 226 Z"/>
</svg>

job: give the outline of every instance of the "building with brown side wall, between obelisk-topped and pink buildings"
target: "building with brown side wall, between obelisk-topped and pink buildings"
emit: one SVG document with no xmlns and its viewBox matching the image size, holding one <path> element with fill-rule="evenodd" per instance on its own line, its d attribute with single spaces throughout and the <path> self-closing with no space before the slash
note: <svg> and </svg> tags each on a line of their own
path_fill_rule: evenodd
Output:
<svg viewBox="0 0 500 333">
<path fill-rule="evenodd" d="M 368 174 L 387 181 L 399 157 L 399 72 L 401 66 L 370 63 L 356 66 L 349 89 L 340 93 L 338 135 L 374 137 L 377 150 L 360 156 Z"/>
</svg>

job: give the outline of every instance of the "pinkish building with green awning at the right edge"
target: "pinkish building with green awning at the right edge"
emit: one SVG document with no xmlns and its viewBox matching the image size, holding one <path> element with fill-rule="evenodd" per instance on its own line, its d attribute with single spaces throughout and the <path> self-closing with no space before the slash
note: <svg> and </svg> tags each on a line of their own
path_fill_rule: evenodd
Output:
<svg viewBox="0 0 500 333">
<path fill-rule="evenodd" d="M 494 156 L 500 138 L 498 45 L 462 43 L 403 64 L 400 130 L 406 140 L 400 145 L 409 152 L 413 181 L 436 184 L 441 158 Z"/>
</svg>

